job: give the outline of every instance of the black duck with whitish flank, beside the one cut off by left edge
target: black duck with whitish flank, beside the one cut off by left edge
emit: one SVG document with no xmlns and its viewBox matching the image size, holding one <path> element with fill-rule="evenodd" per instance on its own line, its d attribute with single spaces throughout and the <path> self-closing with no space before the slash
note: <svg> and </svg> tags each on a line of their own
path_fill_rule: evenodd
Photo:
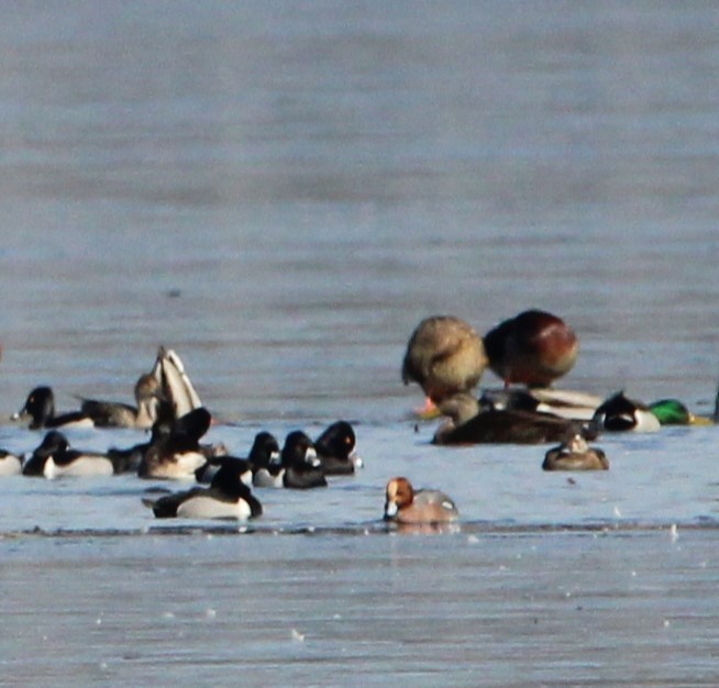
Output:
<svg viewBox="0 0 719 688">
<path fill-rule="evenodd" d="M 23 464 L 22 474 L 53 479 L 69 476 L 111 476 L 124 473 L 125 469 L 124 464 L 113 462 L 106 454 L 70 448 L 67 437 L 59 430 L 51 430 Z"/>
</svg>

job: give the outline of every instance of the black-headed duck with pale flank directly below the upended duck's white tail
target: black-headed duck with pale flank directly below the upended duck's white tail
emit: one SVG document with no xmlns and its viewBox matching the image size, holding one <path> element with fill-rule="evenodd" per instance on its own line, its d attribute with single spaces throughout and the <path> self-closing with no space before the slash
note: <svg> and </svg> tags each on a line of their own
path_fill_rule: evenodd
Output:
<svg viewBox="0 0 719 688">
<path fill-rule="evenodd" d="M 212 415 L 204 408 L 193 409 L 170 426 L 153 426 L 153 441 L 137 467 L 137 476 L 159 480 L 195 480 L 195 471 L 207 463 L 200 439 L 208 432 Z"/>
</svg>

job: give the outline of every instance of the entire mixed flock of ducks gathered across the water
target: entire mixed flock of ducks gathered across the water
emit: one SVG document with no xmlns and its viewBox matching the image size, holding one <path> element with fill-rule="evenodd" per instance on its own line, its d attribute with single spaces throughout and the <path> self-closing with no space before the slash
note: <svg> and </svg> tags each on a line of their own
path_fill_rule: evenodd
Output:
<svg viewBox="0 0 719 688">
<path fill-rule="evenodd" d="M 423 419 L 444 417 L 433 443 L 555 443 L 545 470 L 607 470 L 602 450 L 590 446 L 602 431 L 656 431 L 663 424 L 699 424 L 675 399 L 645 406 L 617 392 L 608 399 L 556 390 L 551 385 L 572 369 L 579 352 L 573 330 L 552 313 L 529 310 L 479 336 L 464 320 L 434 315 L 412 332 L 402 363 L 405 384 L 425 395 Z M 476 395 L 489 368 L 504 388 Z M 277 439 L 259 432 L 247 456 L 223 444 L 202 444 L 212 417 L 202 404 L 179 356 L 159 348 L 154 366 L 135 385 L 135 402 L 84 399 L 80 409 L 58 414 L 53 390 L 36 387 L 13 415 L 43 430 L 40 445 L 25 457 L 0 451 L 0 475 L 57 478 L 135 473 L 140 478 L 192 480 L 189 489 L 153 490 L 143 503 L 157 518 L 247 520 L 263 508 L 252 488 L 325 487 L 328 476 L 349 476 L 362 465 L 351 423 L 340 420 L 318 437 L 290 432 Z M 146 430 L 146 442 L 104 453 L 70 447 L 64 429 L 73 426 Z M 453 500 L 435 489 L 416 490 L 405 477 L 386 485 L 384 518 L 398 523 L 446 523 L 458 519 Z"/>
</svg>

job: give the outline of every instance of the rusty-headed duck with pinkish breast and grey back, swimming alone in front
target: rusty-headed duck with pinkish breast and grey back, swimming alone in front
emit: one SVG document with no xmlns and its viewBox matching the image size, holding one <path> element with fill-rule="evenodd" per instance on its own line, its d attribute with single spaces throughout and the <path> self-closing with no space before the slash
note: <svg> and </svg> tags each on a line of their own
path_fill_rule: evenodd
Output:
<svg viewBox="0 0 719 688">
<path fill-rule="evenodd" d="M 454 501 L 434 489 L 414 490 L 405 477 L 387 482 L 385 491 L 385 521 L 396 523 L 450 523 L 460 518 Z"/>
</svg>

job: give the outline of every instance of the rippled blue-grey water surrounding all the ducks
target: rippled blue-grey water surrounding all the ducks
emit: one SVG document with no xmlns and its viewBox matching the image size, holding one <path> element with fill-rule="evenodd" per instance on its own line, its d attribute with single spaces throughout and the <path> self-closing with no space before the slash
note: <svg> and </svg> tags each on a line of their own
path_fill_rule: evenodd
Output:
<svg viewBox="0 0 719 688">
<path fill-rule="evenodd" d="M 718 14 L 8 9 L 2 415 L 37 384 L 60 410 L 129 401 L 165 344 L 213 439 L 347 418 L 367 467 L 263 493 L 243 536 L 157 524 L 133 478 L 3 480 L 0 683 L 716 685 L 715 429 L 602 437 L 611 470 L 571 485 L 544 447 L 430 446 L 399 366 L 428 314 L 540 307 L 579 334 L 567 387 L 712 408 Z M 402 473 L 456 499 L 458 533 L 385 532 Z"/>
</svg>

